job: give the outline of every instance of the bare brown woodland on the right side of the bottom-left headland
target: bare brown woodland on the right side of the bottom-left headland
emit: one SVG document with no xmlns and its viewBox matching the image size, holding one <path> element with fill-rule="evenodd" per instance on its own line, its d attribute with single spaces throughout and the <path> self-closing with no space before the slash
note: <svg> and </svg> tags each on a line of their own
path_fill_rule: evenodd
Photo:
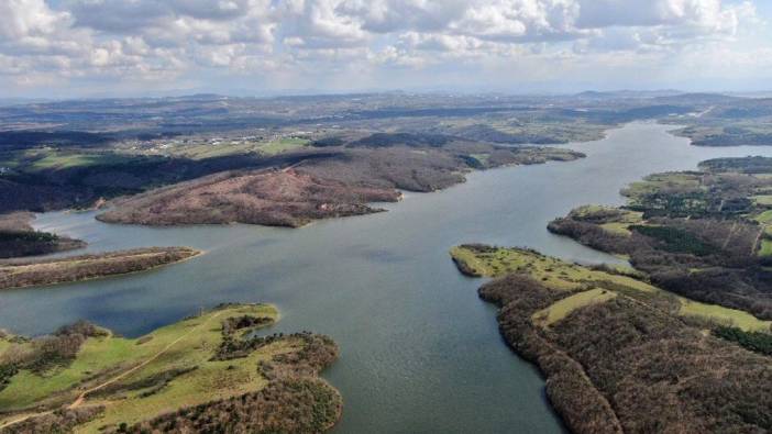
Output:
<svg viewBox="0 0 772 434">
<path fill-rule="evenodd" d="M 242 318 L 243 319 L 243 318 Z M 257 319 L 252 324 L 263 324 Z M 231 331 L 223 327 L 223 335 Z M 114 433 L 190 433 L 190 432 L 285 432 L 321 433 L 331 429 L 342 411 L 340 393 L 317 374 L 338 358 L 335 344 L 327 336 L 295 333 L 271 340 L 250 338 L 262 345 L 238 345 L 235 357 L 247 357 L 272 343 L 304 341 L 302 349 L 274 356 L 257 366 L 268 385 L 255 392 L 181 409 L 131 426 L 119 424 Z M 258 340 L 258 341 L 255 341 Z M 236 338 L 240 341 L 240 338 Z M 222 348 L 222 346 L 221 346 Z M 216 359 L 220 359 L 217 358 Z"/>
</svg>

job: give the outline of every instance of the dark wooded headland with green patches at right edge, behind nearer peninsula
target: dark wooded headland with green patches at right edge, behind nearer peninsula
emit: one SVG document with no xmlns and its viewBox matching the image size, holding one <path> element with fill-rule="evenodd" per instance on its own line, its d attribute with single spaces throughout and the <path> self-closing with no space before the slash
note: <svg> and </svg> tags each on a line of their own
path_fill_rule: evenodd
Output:
<svg viewBox="0 0 772 434">
<path fill-rule="evenodd" d="M 553 233 L 630 258 L 670 291 L 772 319 L 772 158 L 708 160 L 622 193 L 622 209 L 583 207 Z"/>
</svg>

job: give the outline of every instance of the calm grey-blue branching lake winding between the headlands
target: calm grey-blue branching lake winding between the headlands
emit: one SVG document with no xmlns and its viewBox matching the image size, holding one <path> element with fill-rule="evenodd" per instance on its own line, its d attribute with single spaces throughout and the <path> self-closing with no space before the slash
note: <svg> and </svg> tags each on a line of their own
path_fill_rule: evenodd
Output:
<svg viewBox="0 0 772 434">
<path fill-rule="evenodd" d="M 615 259 L 547 232 L 584 203 L 621 203 L 626 183 L 692 169 L 718 156 L 772 147 L 699 148 L 655 124 L 630 124 L 570 147 L 573 163 L 476 173 L 445 191 L 408 193 L 387 213 L 300 230 L 234 225 L 107 225 L 91 213 L 49 213 L 38 229 L 100 252 L 151 245 L 207 251 L 190 261 L 122 278 L 4 291 L 0 327 L 41 334 L 88 319 L 130 336 L 227 301 L 279 307 L 279 331 L 331 335 L 340 360 L 324 372 L 343 394 L 339 433 L 561 432 L 543 380 L 501 342 L 495 309 L 477 299 L 448 249 L 464 242 L 517 245 L 582 263 Z"/>
</svg>

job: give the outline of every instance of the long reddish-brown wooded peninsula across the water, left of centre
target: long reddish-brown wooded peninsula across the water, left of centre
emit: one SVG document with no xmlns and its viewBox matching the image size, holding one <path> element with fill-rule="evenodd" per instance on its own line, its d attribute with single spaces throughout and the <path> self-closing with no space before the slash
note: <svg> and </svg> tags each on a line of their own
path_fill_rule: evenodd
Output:
<svg viewBox="0 0 772 434">
<path fill-rule="evenodd" d="M 297 227 L 313 220 L 382 211 L 368 202 L 399 200 L 397 189 L 434 191 L 464 181 L 472 167 L 571 160 L 580 153 L 503 149 L 464 144 L 421 152 L 407 146 L 357 148 L 291 168 L 229 171 L 119 199 L 99 215 L 110 223 L 147 225 L 251 223 Z M 485 163 L 468 157 L 485 154 Z M 474 163 L 470 162 L 472 159 Z"/>
</svg>

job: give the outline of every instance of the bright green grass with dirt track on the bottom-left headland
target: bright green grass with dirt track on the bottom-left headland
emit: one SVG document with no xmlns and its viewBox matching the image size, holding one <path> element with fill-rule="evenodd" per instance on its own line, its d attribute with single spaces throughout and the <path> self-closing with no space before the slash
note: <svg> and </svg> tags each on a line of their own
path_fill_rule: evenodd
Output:
<svg viewBox="0 0 772 434">
<path fill-rule="evenodd" d="M 225 305 L 140 338 L 112 334 L 90 337 L 69 365 L 45 372 L 21 370 L 13 376 L 8 387 L 0 390 L 0 425 L 3 419 L 15 418 L 8 414 L 10 411 L 56 408 L 77 402 L 85 394 L 82 405 L 104 405 L 104 411 L 76 432 L 98 433 L 106 425 L 131 425 L 180 408 L 261 390 L 268 379 L 257 366 L 280 354 L 298 353 L 306 344 L 302 338 L 288 335 L 245 357 L 214 359 L 223 342 L 223 321 L 243 316 L 266 319 L 269 325 L 279 313 L 268 304 Z M 13 346 L 18 352 L 32 345 L 10 344 L 11 337 L 0 340 L 5 352 Z M 0 360 L 5 352 L 0 354 Z"/>
</svg>

